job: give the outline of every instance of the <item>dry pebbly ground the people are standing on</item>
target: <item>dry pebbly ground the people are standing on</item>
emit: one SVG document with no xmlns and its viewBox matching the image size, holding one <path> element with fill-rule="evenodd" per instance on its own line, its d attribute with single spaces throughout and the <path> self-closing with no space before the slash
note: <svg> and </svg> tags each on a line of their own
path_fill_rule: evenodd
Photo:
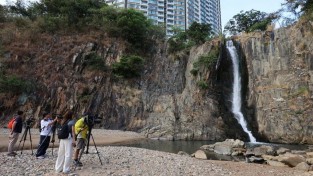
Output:
<svg viewBox="0 0 313 176">
<path fill-rule="evenodd" d="M 4 152 L 7 145 L 7 131 L 2 129 L 0 134 L 0 175 L 63 175 L 54 172 L 57 149 L 48 149 L 45 159 L 36 159 L 31 150 L 19 151 L 15 157 L 9 157 Z M 312 172 L 304 172 L 286 167 L 273 167 L 244 162 L 200 160 L 190 156 L 152 151 L 147 149 L 109 146 L 109 144 L 136 140 L 142 138 L 134 132 L 112 130 L 94 130 L 94 138 L 98 145 L 100 159 L 94 146 L 90 146 L 89 154 L 83 154 L 81 161 L 84 166 L 72 168 L 69 175 L 206 175 L 206 176 L 309 176 Z M 37 145 L 38 133 L 32 131 L 33 145 Z M 37 139 L 36 139 L 37 138 Z M 18 141 L 19 143 L 19 141 Z M 17 145 L 18 145 L 17 143 Z M 29 147 L 29 139 L 25 146 Z M 56 142 L 57 145 L 58 142 Z M 102 147 L 99 147 L 99 146 Z M 103 146 L 106 145 L 106 146 Z M 34 150 L 35 152 L 35 150 Z"/>
</svg>

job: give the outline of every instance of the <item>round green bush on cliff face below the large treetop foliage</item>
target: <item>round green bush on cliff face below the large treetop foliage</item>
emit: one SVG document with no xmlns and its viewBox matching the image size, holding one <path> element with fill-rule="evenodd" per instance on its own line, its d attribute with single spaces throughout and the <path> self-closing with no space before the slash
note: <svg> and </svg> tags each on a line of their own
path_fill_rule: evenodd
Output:
<svg viewBox="0 0 313 176">
<path fill-rule="evenodd" d="M 123 56 L 118 63 L 112 64 L 112 71 L 123 78 L 139 77 L 143 69 L 144 59 L 140 56 Z"/>
</svg>

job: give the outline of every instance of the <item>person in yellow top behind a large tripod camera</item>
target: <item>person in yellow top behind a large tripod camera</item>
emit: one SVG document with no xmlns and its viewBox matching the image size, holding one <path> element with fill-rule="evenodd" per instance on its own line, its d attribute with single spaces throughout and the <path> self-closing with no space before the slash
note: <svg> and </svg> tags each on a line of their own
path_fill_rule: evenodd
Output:
<svg viewBox="0 0 313 176">
<path fill-rule="evenodd" d="M 86 144 L 87 144 L 87 133 L 88 133 L 88 115 L 80 118 L 75 123 L 75 133 L 77 136 L 76 141 L 76 150 L 74 153 L 74 164 L 76 166 L 83 166 L 83 164 L 78 160 L 78 156 L 80 151 L 83 152 Z"/>
</svg>

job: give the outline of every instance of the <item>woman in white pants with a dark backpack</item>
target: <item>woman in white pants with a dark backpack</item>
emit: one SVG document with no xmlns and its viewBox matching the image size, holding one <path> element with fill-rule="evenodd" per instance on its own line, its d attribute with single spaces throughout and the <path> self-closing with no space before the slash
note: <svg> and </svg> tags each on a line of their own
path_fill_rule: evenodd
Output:
<svg viewBox="0 0 313 176">
<path fill-rule="evenodd" d="M 67 125 L 68 137 L 65 139 L 60 139 L 58 158 L 55 163 L 55 171 L 57 173 L 62 172 L 64 174 L 69 174 L 71 172 L 70 166 L 72 162 L 73 155 L 73 147 L 75 146 L 75 132 L 74 132 L 74 124 L 73 120 L 73 112 L 69 111 L 64 115 L 64 118 L 57 117 L 57 122 L 61 125 Z M 62 127 L 63 128 L 63 127 Z"/>
</svg>

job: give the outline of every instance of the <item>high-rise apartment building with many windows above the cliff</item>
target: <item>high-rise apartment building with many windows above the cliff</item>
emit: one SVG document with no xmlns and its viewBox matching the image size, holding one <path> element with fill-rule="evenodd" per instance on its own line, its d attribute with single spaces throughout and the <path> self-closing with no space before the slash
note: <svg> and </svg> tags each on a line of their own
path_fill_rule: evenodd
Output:
<svg viewBox="0 0 313 176">
<path fill-rule="evenodd" d="M 166 27 L 167 36 L 173 27 L 183 30 L 194 22 L 211 24 L 218 34 L 221 27 L 220 0 L 106 0 L 109 5 L 142 11 L 154 24 Z"/>
</svg>

